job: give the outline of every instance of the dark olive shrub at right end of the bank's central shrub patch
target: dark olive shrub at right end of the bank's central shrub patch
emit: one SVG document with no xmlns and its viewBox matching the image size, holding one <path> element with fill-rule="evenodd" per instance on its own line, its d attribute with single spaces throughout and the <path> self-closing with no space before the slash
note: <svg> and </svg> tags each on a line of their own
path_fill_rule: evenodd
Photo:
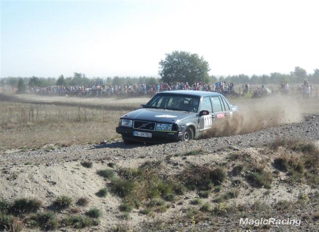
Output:
<svg viewBox="0 0 319 232">
<path fill-rule="evenodd" d="M 190 165 L 182 171 L 181 179 L 190 189 L 209 190 L 213 185 L 220 185 L 226 179 L 226 173 L 220 167 Z"/>
</svg>

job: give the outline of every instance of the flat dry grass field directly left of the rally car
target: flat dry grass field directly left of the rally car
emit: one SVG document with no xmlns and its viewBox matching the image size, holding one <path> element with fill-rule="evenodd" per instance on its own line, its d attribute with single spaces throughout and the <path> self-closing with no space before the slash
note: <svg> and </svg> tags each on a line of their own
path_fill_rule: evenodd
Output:
<svg viewBox="0 0 319 232">
<path fill-rule="evenodd" d="M 124 111 L 1 102 L 1 149 L 69 146 L 119 138 L 115 132 Z"/>
</svg>

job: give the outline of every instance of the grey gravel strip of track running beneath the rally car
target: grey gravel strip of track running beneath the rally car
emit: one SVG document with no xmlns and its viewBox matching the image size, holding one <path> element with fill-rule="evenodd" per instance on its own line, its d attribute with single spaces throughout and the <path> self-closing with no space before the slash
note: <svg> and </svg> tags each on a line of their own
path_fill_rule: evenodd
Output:
<svg viewBox="0 0 319 232">
<path fill-rule="evenodd" d="M 118 157 L 124 160 L 141 156 L 160 158 L 181 151 L 204 148 L 213 153 L 223 148 L 259 147 L 276 138 L 300 138 L 317 142 L 319 140 L 319 115 L 305 116 L 302 122 L 269 127 L 256 132 L 228 137 L 198 139 L 188 142 L 173 142 L 158 145 L 125 145 L 122 139 L 115 139 L 103 145 L 72 145 L 70 147 L 54 147 L 54 150 L 34 151 L 8 150 L 0 154 L 2 163 L 41 162 L 48 165 L 57 162 L 69 162 L 76 159 L 98 160 L 105 157 Z M 51 147 L 51 146 L 50 146 Z"/>
</svg>

